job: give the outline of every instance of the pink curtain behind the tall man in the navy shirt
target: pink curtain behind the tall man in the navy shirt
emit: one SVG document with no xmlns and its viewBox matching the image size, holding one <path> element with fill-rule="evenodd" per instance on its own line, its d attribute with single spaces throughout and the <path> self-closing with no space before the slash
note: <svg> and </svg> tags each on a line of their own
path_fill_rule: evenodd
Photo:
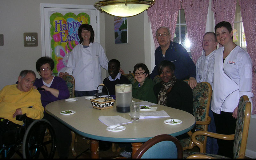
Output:
<svg viewBox="0 0 256 160">
<path fill-rule="evenodd" d="M 156 30 L 159 27 L 165 26 L 170 29 L 171 40 L 173 40 L 178 11 L 180 9 L 180 0 L 156 0 L 156 3 L 148 9 L 153 37 L 156 36 Z M 155 38 L 154 42 L 156 48 L 159 47 Z"/>
</svg>

